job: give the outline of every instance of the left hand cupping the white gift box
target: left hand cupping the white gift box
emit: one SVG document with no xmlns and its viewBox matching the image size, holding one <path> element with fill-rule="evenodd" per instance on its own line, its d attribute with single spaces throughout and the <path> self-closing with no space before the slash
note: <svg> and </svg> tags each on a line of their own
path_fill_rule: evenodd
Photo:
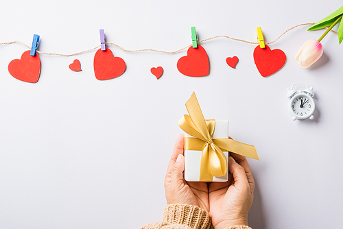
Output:
<svg viewBox="0 0 343 229">
<path fill-rule="evenodd" d="M 186 182 L 183 178 L 185 158 L 183 156 L 184 134 L 176 140 L 165 176 L 165 197 L 168 204 L 189 204 L 209 212 L 209 191 L 204 182 Z"/>
</svg>

